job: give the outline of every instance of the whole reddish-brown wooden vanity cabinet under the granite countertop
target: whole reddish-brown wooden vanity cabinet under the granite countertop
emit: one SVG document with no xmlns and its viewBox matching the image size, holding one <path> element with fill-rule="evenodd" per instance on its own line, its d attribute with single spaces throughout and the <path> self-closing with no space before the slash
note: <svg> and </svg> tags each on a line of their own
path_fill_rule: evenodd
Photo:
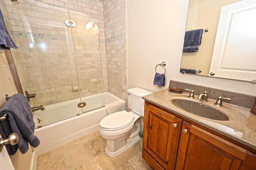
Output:
<svg viewBox="0 0 256 170">
<path fill-rule="evenodd" d="M 166 170 L 256 170 L 256 155 L 145 102 L 142 158 Z"/>
</svg>

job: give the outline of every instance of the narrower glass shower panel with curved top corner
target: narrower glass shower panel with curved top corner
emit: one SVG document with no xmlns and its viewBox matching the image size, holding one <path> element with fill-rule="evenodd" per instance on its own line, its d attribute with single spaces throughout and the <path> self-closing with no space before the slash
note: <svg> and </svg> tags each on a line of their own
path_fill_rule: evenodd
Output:
<svg viewBox="0 0 256 170">
<path fill-rule="evenodd" d="M 105 106 L 99 29 L 88 15 L 74 10 L 69 10 L 69 14 L 70 20 L 76 23 L 71 29 L 81 102 L 86 103 L 85 113 Z"/>
</svg>

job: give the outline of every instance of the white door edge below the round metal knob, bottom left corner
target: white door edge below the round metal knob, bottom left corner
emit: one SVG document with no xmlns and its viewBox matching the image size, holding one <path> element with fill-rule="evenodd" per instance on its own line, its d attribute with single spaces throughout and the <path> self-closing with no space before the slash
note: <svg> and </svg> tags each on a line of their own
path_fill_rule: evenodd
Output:
<svg viewBox="0 0 256 170">
<path fill-rule="evenodd" d="M 2 152 L 0 153 L 0 166 L 1 166 L 0 167 L 1 170 L 14 170 L 12 161 L 11 161 L 10 156 L 8 155 L 8 152 L 5 147 L 3 148 Z"/>
</svg>

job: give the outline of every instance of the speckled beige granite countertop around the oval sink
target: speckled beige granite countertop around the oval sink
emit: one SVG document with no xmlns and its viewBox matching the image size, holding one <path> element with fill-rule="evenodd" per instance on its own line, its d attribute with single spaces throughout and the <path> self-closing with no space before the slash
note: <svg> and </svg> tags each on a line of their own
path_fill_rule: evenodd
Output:
<svg viewBox="0 0 256 170">
<path fill-rule="evenodd" d="M 162 90 L 159 92 L 155 92 L 153 94 L 149 94 L 147 96 L 143 96 L 142 98 L 152 104 L 163 107 L 169 111 L 172 111 L 186 119 L 194 121 L 208 129 L 216 131 L 226 137 L 234 139 L 252 149 L 256 149 L 256 115 L 250 113 L 250 109 L 240 106 L 234 106 L 232 104 L 223 103 L 223 107 L 215 106 L 214 103 L 216 100 L 208 99 L 208 102 L 202 102 L 204 105 L 208 105 L 213 107 L 214 109 L 218 109 L 223 111 L 228 115 L 229 120 L 220 121 L 207 119 L 204 117 L 200 117 L 182 109 L 174 106 L 172 102 L 173 99 L 185 99 L 196 102 L 201 102 L 197 99 L 198 96 L 195 95 L 194 99 L 188 98 L 189 93 L 183 92 L 182 94 L 177 94 L 170 92 L 169 89 Z"/>
</svg>

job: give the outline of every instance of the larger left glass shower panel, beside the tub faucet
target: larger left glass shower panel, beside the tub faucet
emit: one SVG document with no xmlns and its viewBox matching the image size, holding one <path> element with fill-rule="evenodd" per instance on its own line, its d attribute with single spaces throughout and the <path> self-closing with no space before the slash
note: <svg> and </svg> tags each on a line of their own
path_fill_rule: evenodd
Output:
<svg viewBox="0 0 256 170">
<path fill-rule="evenodd" d="M 68 10 L 42 2 L 22 3 L 28 2 L 10 7 L 19 15 L 15 23 L 22 25 L 13 31 L 19 48 L 12 50 L 12 56 L 23 91 L 36 94 L 31 107 L 45 107 L 34 112 L 36 127 L 82 114 L 76 102 L 80 93 L 72 29 L 64 23 L 70 18 Z"/>
</svg>

